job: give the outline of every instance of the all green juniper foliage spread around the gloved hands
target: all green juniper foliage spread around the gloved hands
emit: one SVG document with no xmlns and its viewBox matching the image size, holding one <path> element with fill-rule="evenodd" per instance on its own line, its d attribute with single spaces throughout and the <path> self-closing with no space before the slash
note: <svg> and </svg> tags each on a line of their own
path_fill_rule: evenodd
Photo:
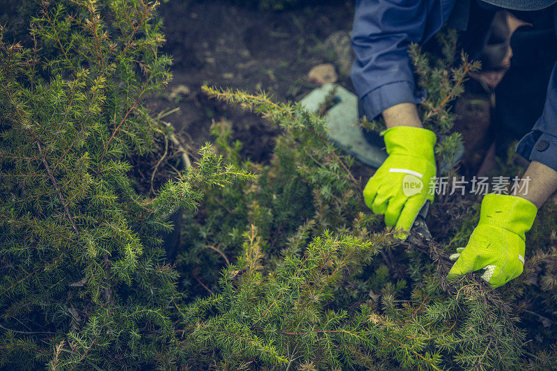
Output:
<svg viewBox="0 0 557 371">
<path fill-rule="evenodd" d="M 453 207 L 460 230 L 444 245 L 401 244 L 363 204 L 354 161 L 327 140 L 324 118 L 265 93 L 209 87 L 283 129 L 271 163 L 244 161 L 221 120 L 216 145 L 152 198 L 132 159 L 160 154 L 171 134 L 143 104 L 170 77 L 157 4 L 34 4 L 29 37 L 0 42 L 0 367 L 556 364 L 553 202 L 528 236 L 539 250 L 527 250 L 520 278 L 502 290 L 473 274 L 448 283 L 448 252 L 466 242 L 478 209 Z M 455 34 L 439 40 L 441 59 L 416 46 L 411 55 L 443 159 L 460 141 L 444 136 L 448 102 L 478 65 L 454 67 Z M 161 232 L 174 212 L 184 214 L 182 245 L 168 262 Z M 430 223 L 444 222 L 436 215 Z"/>
</svg>

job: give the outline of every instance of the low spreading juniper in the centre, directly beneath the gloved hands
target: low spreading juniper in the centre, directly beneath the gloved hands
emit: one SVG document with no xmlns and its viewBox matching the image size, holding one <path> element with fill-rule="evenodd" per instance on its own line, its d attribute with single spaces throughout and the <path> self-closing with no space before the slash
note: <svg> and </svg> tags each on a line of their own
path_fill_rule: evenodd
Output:
<svg viewBox="0 0 557 371">
<path fill-rule="evenodd" d="M 378 228 L 359 182 L 352 182 L 350 159 L 327 142 L 323 118 L 264 94 L 205 91 L 285 129 L 267 170 L 283 189 L 266 190 L 260 177 L 255 192 L 279 198 L 301 179 L 311 189 L 314 214 L 283 229 L 290 237 L 278 246 L 267 235 L 268 221 L 245 216 L 235 264 L 209 298 L 182 310 L 199 368 L 441 370 L 520 363 L 524 333 L 509 306 L 478 278 L 449 285 L 450 262 L 440 246 L 401 246 Z M 294 171 L 281 172 L 292 163 Z M 272 219 L 290 209 L 288 203 L 258 205 L 259 214 Z"/>
</svg>

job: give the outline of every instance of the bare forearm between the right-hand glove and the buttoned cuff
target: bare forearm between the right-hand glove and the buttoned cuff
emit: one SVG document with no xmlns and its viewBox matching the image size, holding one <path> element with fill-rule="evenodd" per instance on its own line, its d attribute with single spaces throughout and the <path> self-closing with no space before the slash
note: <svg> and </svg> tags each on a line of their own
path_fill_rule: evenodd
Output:
<svg viewBox="0 0 557 371">
<path fill-rule="evenodd" d="M 528 182 L 528 187 L 524 182 Z M 539 209 L 557 189 L 557 171 L 538 161 L 532 161 L 518 189 L 517 196 L 525 198 Z"/>
</svg>

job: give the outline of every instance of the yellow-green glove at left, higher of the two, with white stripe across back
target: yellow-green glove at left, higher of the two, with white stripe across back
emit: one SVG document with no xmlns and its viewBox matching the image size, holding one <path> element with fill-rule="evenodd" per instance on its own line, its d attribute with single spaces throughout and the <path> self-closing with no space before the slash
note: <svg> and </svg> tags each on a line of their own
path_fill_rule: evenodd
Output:
<svg viewBox="0 0 557 371">
<path fill-rule="evenodd" d="M 397 126 L 382 132 L 389 157 L 363 189 L 363 200 L 385 224 L 410 230 L 427 200 L 433 201 L 435 134 L 421 127 Z M 399 236 L 405 237 L 405 236 Z"/>
</svg>

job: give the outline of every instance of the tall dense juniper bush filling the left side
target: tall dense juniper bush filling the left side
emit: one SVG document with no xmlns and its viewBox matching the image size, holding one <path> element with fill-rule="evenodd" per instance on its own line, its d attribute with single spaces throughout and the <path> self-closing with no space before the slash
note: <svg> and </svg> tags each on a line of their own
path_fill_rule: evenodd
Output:
<svg viewBox="0 0 557 371">
<path fill-rule="evenodd" d="M 0 365 L 149 368 L 178 351 L 159 232 L 202 187 L 251 175 L 207 145 L 157 198 L 135 190 L 129 159 L 169 134 L 142 103 L 171 76 L 156 6 L 43 1 L 29 38 L 0 30 Z"/>
</svg>

